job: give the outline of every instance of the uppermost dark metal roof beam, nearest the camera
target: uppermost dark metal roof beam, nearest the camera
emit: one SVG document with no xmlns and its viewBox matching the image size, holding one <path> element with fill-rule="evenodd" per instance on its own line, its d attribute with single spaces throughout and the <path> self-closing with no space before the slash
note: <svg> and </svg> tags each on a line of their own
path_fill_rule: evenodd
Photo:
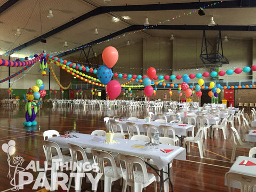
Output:
<svg viewBox="0 0 256 192">
<path fill-rule="evenodd" d="M 13 2 L 18 0 L 12 0 Z M 11 0 L 9 1 L 11 2 Z M 164 10 L 186 10 L 186 9 L 199 9 L 199 7 L 204 7 L 214 2 L 191 2 L 191 3 L 169 3 L 169 4 L 149 4 L 149 5 L 124 5 L 124 6 L 101 6 L 88 13 L 81 15 L 80 17 L 65 23 L 64 25 L 57 27 L 48 33 L 45 33 L 39 37 L 32 39 L 31 41 L 24 43 L 18 47 L 15 47 L 13 50 L 4 53 L 4 55 L 10 55 L 15 51 L 24 49 L 27 46 L 33 45 L 54 34 L 59 33 L 60 31 L 67 29 L 77 23 L 84 21 L 90 17 L 94 17 L 99 14 L 108 13 L 108 12 L 121 12 L 121 11 L 164 11 Z M 205 7 L 205 9 L 219 9 L 219 8 L 241 8 L 241 7 L 256 7 L 255 0 L 234 0 L 234 1 L 223 1 L 221 3 L 216 3 L 216 6 Z"/>
</svg>

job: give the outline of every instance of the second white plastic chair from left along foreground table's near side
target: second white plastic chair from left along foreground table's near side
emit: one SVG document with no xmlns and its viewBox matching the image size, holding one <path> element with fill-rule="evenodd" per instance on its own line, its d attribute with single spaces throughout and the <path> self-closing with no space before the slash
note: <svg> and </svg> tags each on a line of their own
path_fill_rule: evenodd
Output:
<svg viewBox="0 0 256 192">
<path fill-rule="evenodd" d="M 94 162 L 93 162 L 93 159 L 88 159 L 87 156 L 86 156 L 86 153 L 84 151 L 84 149 L 78 145 L 74 145 L 74 144 L 71 144 L 71 143 L 68 143 L 68 146 L 69 146 L 69 150 L 70 150 L 70 155 L 71 155 L 71 158 L 72 158 L 72 162 L 73 162 L 73 165 L 74 163 L 77 164 L 77 167 L 81 167 L 81 165 L 85 162 L 90 162 L 90 165 L 92 165 Z M 82 156 L 82 159 L 78 161 L 78 156 Z M 73 173 L 75 170 L 72 169 L 71 172 Z M 76 173 L 83 173 L 83 169 L 81 167 L 81 169 L 76 169 Z M 81 186 L 82 186 L 82 179 L 79 179 L 78 180 L 78 186 L 79 186 L 79 189 L 76 190 L 76 192 L 79 192 L 81 191 Z M 72 181 L 72 177 L 70 177 L 69 179 L 69 182 L 68 182 L 68 190 L 70 189 L 70 186 L 71 186 L 71 181 Z"/>
</svg>

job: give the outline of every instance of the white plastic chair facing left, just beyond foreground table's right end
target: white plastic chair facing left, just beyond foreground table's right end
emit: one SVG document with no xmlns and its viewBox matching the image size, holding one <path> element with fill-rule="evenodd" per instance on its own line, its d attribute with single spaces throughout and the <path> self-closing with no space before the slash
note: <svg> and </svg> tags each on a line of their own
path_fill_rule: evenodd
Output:
<svg viewBox="0 0 256 192">
<path fill-rule="evenodd" d="M 186 142 L 188 142 L 188 153 L 190 152 L 190 142 L 197 143 L 200 158 L 204 158 L 205 156 L 205 149 L 204 149 L 204 141 L 203 141 L 203 133 L 204 127 L 201 127 L 195 137 L 186 137 L 183 140 L 183 147 L 186 148 Z"/>
</svg>

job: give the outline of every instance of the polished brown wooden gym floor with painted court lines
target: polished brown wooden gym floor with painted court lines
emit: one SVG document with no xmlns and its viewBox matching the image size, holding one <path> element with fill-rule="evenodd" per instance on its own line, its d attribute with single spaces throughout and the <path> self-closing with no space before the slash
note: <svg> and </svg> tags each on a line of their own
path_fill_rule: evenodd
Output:
<svg viewBox="0 0 256 192">
<path fill-rule="evenodd" d="M 71 109 L 71 108 L 55 108 L 51 106 L 41 106 L 35 121 L 37 126 L 24 127 L 25 109 L 24 106 L 20 108 L 1 108 L 0 110 L 0 145 L 8 143 L 10 140 L 15 141 L 15 154 L 13 156 L 20 156 L 25 161 L 20 164 L 20 167 L 25 168 L 31 160 L 40 161 L 43 167 L 45 160 L 42 140 L 43 132 L 46 130 L 58 130 L 60 134 L 65 131 L 76 129 L 79 133 L 90 134 L 95 129 L 105 129 L 103 117 L 108 116 L 108 109 L 106 110 L 92 110 L 92 109 Z M 146 117 L 146 111 L 118 111 L 111 110 L 114 116 L 137 116 L 139 118 Z M 230 127 L 230 125 L 227 125 Z M 242 125 L 235 122 L 235 127 L 239 133 L 242 133 Z M 241 135 L 242 137 L 242 135 Z M 10 144 L 10 143 L 9 143 Z M 221 131 L 217 133 L 217 137 L 207 138 L 204 140 L 206 157 L 201 159 L 199 157 L 199 150 L 197 147 L 191 147 L 190 153 L 187 154 L 186 161 L 173 161 L 173 181 L 174 191 L 228 191 L 224 185 L 224 175 L 230 169 L 230 157 L 232 152 L 233 140 L 230 129 L 228 129 L 227 140 L 223 139 Z M 249 150 L 238 149 L 236 156 L 248 156 Z M 12 157 L 12 156 L 11 156 Z M 11 159 L 11 161 L 13 161 Z M 10 184 L 11 179 L 7 177 L 9 172 L 9 165 L 7 162 L 7 153 L 2 149 L 0 152 L 0 191 L 12 191 L 13 186 Z M 10 172 L 13 175 L 14 167 L 11 167 Z M 26 170 L 33 174 L 34 179 L 37 177 L 37 172 L 33 170 Z M 50 174 L 50 171 L 47 172 Z M 83 180 L 84 181 L 84 180 Z M 25 185 L 24 189 L 19 191 L 47 191 L 42 188 L 32 189 L 34 181 Z M 91 190 L 88 183 L 83 183 L 85 190 Z M 159 183 L 158 183 L 159 189 Z M 121 191 L 122 187 L 119 181 L 114 183 L 113 191 Z M 153 185 L 146 188 L 146 191 L 153 191 Z M 58 188 L 58 191 L 62 191 Z M 70 191 L 74 191 L 71 189 Z M 98 187 L 100 190 L 100 185 Z M 171 191 L 171 188 L 170 188 Z M 235 190 L 234 190 L 235 191 Z"/>
</svg>

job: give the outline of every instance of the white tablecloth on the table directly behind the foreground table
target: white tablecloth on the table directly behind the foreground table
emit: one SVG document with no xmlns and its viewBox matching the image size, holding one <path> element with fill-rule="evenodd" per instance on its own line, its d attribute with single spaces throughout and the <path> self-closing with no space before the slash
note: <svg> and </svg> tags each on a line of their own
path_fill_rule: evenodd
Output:
<svg viewBox="0 0 256 192">
<path fill-rule="evenodd" d="M 124 131 L 127 131 L 126 122 L 136 123 L 139 126 L 141 134 L 144 131 L 142 125 L 148 124 L 145 121 L 145 119 L 139 119 L 138 121 L 119 121 L 119 122 L 122 124 Z M 154 121 L 151 122 L 150 124 L 155 125 L 157 128 L 159 127 L 159 125 L 170 125 L 174 128 L 176 135 L 182 135 L 182 136 L 187 136 L 187 131 L 193 131 L 193 125 L 187 125 L 187 124 L 182 124 L 186 126 L 179 126 L 179 124 L 175 124 L 175 123 L 162 123 L 162 122 L 154 122 Z"/>
</svg>

